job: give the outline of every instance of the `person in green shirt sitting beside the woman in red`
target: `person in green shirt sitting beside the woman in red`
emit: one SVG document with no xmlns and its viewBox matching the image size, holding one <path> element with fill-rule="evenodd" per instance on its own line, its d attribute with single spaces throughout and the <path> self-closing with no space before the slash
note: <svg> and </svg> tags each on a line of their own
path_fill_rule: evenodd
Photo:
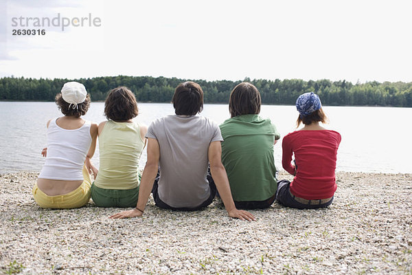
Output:
<svg viewBox="0 0 412 275">
<path fill-rule="evenodd" d="M 259 116 L 262 101 L 251 83 L 240 83 L 229 98 L 231 118 L 220 124 L 222 163 L 237 208 L 268 208 L 277 190 L 273 145 L 280 135 Z"/>
</svg>

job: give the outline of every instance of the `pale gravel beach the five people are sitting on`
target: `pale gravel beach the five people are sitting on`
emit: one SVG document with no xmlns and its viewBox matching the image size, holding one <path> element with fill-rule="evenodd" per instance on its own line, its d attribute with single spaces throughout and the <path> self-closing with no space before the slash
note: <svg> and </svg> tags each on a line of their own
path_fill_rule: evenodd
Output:
<svg viewBox="0 0 412 275">
<path fill-rule="evenodd" d="M 93 202 L 45 210 L 37 175 L 0 175 L 0 274 L 412 274 L 411 174 L 337 173 L 329 208 L 274 203 L 254 222 L 218 199 L 196 212 L 150 199 L 144 217 L 123 220 Z"/>
</svg>

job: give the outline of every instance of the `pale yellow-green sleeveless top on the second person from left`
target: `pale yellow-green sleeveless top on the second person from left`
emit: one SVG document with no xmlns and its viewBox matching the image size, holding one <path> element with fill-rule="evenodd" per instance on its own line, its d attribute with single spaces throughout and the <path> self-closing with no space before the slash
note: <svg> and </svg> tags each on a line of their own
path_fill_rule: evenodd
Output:
<svg viewBox="0 0 412 275">
<path fill-rule="evenodd" d="M 139 186 L 139 159 L 143 148 L 137 122 L 108 120 L 99 135 L 100 166 L 95 186 L 119 190 Z"/>
</svg>

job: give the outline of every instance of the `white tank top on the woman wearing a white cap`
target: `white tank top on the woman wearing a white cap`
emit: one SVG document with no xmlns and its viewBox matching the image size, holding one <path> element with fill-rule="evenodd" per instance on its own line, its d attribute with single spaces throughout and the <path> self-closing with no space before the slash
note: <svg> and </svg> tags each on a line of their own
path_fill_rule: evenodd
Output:
<svg viewBox="0 0 412 275">
<path fill-rule="evenodd" d="M 82 180 L 84 159 L 91 144 L 91 122 L 74 130 L 62 129 L 51 120 L 47 128 L 47 157 L 40 179 Z"/>
</svg>

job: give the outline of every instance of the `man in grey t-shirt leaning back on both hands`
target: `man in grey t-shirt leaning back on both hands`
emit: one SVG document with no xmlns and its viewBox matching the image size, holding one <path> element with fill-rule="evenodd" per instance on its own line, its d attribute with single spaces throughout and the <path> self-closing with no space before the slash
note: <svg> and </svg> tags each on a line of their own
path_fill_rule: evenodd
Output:
<svg viewBox="0 0 412 275">
<path fill-rule="evenodd" d="M 172 103 L 176 114 L 152 122 L 146 134 L 148 159 L 136 208 L 111 218 L 141 216 L 150 192 L 160 208 L 199 210 L 213 201 L 217 187 L 229 217 L 254 220 L 251 213 L 238 210 L 233 203 L 221 162 L 222 135 L 218 125 L 197 115 L 203 110 L 201 86 L 191 81 L 181 83 Z M 207 175 L 208 163 L 213 179 Z M 158 168 L 160 176 L 156 178 Z"/>
</svg>

